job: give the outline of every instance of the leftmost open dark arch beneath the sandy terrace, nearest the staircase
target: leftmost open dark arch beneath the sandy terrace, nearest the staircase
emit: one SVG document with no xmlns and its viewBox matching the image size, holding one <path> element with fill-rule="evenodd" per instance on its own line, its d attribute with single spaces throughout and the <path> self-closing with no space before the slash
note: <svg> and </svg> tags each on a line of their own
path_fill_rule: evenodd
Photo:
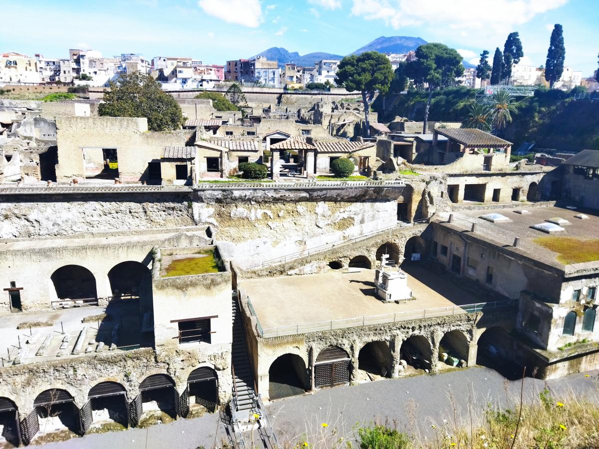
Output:
<svg viewBox="0 0 599 449">
<path fill-rule="evenodd" d="M 284 354 L 268 369 L 268 396 L 271 400 L 302 395 L 309 389 L 304 360 Z"/>
</svg>

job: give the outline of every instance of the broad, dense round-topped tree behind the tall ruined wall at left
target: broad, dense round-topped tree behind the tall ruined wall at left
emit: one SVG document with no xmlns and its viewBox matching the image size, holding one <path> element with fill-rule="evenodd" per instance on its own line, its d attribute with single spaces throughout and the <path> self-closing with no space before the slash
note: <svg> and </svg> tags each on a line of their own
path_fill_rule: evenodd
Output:
<svg viewBox="0 0 599 449">
<path fill-rule="evenodd" d="M 108 117 L 146 117 L 151 131 L 179 129 L 183 124 L 183 113 L 173 96 L 141 72 L 121 74 L 116 83 L 110 81 L 110 90 L 104 92 L 98 113 Z"/>
</svg>

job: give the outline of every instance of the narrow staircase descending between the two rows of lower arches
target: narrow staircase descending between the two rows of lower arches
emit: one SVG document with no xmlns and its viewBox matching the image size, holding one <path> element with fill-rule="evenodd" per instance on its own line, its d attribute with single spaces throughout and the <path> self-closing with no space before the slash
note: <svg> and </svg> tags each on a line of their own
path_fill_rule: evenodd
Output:
<svg viewBox="0 0 599 449">
<path fill-rule="evenodd" d="M 232 295 L 233 312 L 233 342 L 231 348 L 231 374 L 233 377 L 233 392 L 228 404 L 228 414 L 221 419 L 226 424 L 229 441 L 236 448 L 247 447 L 243 433 L 244 429 L 255 427 L 265 449 L 279 447 L 272 424 L 262 404 L 262 399 L 256 393 L 256 382 L 247 354 L 246 332 L 239 304 L 238 293 Z"/>
</svg>

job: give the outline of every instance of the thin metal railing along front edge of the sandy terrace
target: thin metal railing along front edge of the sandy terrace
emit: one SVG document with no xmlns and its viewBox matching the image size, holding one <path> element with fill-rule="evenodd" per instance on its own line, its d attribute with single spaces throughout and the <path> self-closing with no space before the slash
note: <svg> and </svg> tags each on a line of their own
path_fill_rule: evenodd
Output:
<svg viewBox="0 0 599 449">
<path fill-rule="evenodd" d="M 319 332 L 322 330 L 346 329 L 348 327 L 363 327 L 372 324 L 397 323 L 407 320 L 420 320 L 423 318 L 444 317 L 448 315 L 461 315 L 477 312 L 491 312 L 498 309 L 513 307 L 515 299 L 504 301 L 477 302 L 476 304 L 455 305 L 452 307 L 437 307 L 422 310 L 409 310 L 382 315 L 370 315 L 341 320 L 319 321 L 317 323 L 294 324 L 292 326 L 268 327 L 262 332 L 263 338 L 283 335 L 297 335 L 301 333 Z"/>
</svg>

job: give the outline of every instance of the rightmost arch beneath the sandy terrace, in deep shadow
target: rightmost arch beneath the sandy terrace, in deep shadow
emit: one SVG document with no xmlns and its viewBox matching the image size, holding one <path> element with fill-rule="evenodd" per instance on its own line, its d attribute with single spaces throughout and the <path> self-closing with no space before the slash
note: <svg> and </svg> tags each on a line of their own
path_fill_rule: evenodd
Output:
<svg viewBox="0 0 599 449">
<path fill-rule="evenodd" d="M 492 326 L 477 341 L 476 364 L 495 369 L 509 380 L 522 378 L 522 366 L 513 360 L 512 340 L 507 330 Z"/>
</svg>

